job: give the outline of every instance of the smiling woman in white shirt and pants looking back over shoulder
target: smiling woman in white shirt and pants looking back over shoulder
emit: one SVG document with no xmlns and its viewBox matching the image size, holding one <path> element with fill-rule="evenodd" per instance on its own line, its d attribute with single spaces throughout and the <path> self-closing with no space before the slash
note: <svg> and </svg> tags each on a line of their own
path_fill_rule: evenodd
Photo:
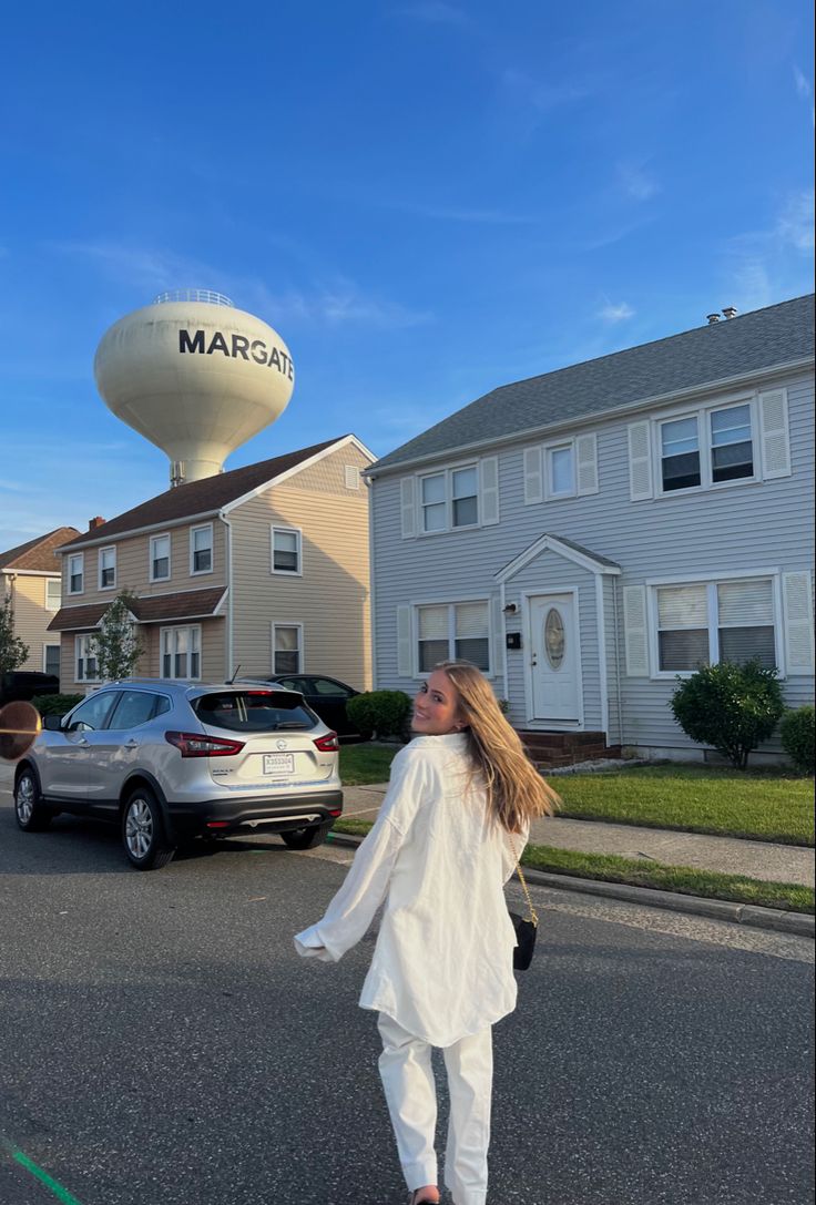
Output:
<svg viewBox="0 0 816 1205">
<path fill-rule="evenodd" d="M 530 821 L 552 812 L 557 795 L 468 662 L 436 666 L 417 694 L 412 728 L 342 887 L 295 946 L 336 962 L 386 900 L 360 1005 L 380 1013 L 380 1074 L 410 1203 L 440 1199 L 430 1062 L 439 1046 L 451 1098 L 445 1183 L 454 1205 L 485 1205 L 491 1027 L 516 1005 L 516 934 L 503 886 Z"/>
</svg>

